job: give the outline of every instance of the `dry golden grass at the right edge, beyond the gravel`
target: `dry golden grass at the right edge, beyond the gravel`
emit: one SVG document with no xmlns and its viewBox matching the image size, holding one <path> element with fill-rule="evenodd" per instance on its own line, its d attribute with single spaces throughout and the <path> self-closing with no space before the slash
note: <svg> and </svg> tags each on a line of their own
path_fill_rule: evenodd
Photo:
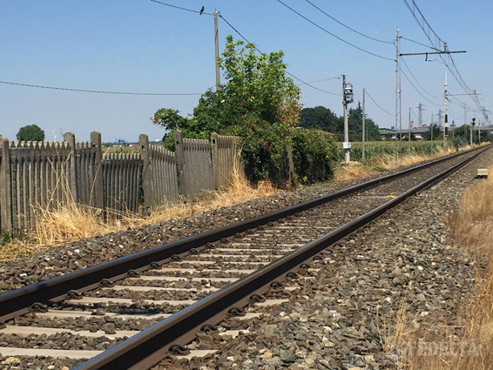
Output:
<svg viewBox="0 0 493 370">
<path fill-rule="evenodd" d="M 385 337 L 384 348 L 399 349 L 405 369 L 493 369 L 493 176 L 464 192 L 446 224 L 454 244 L 477 259 L 475 287 L 460 309 L 465 318 L 460 326 L 449 325 L 444 317 L 417 329 L 397 313 L 394 334 Z"/>
</svg>

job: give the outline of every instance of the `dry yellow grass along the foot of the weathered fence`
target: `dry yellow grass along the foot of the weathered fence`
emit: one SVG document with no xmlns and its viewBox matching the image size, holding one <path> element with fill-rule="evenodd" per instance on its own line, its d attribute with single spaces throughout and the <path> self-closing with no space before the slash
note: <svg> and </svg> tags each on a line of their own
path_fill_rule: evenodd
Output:
<svg viewBox="0 0 493 370">
<path fill-rule="evenodd" d="M 98 210 L 80 206 L 67 200 L 57 211 L 40 210 L 35 230 L 23 240 L 13 240 L 0 247 L 0 262 L 27 257 L 47 246 L 62 245 L 83 237 L 127 230 L 166 220 L 183 218 L 223 206 L 232 206 L 276 193 L 270 181 L 261 181 L 256 187 L 249 185 L 244 172 L 236 166 L 230 186 L 221 191 L 211 191 L 202 199 L 188 203 L 176 203 L 155 210 L 151 216 L 136 214 L 119 215 L 118 219 L 105 222 Z M 81 225 L 84 225 L 82 228 Z"/>
</svg>

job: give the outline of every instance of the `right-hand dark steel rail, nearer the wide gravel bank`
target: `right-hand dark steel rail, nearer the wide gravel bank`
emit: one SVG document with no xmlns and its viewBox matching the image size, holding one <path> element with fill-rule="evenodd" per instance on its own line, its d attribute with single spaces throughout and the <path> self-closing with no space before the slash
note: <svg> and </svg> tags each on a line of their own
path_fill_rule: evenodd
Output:
<svg viewBox="0 0 493 370">
<path fill-rule="evenodd" d="M 351 235 L 376 218 L 379 218 L 383 213 L 402 203 L 409 196 L 413 196 L 418 191 L 443 179 L 450 172 L 463 167 L 480 155 L 481 152 L 477 152 L 472 157 L 422 181 L 412 189 L 399 194 L 396 198 L 339 226 L 339 228 L 286 254 L 254 273 L 225 286 L 220 291 L 193 303 L 188 308 L 171 315 L 169 318 L 149 327 L 147 330 L 143 330 L 115 347 L 89 359 L 84 364 L 77 366 L 75 370 L 148 369 L 154 366 L 169 353 L 169 349 L 172 346 L 190 342 L 195 337 L 195 333 L 200 331 L 203 325 L 220 323 L 229 308 L 246 305 L 252 294 L 263 293 L 263 291 L 268 289 L 272 281 L 285 276 L 290 271 L 299 269 L 300 264 L 306 263 L 308 259 L 312 259 L 317 253 L 334 246 L 341 239 Z"/>
</svg>

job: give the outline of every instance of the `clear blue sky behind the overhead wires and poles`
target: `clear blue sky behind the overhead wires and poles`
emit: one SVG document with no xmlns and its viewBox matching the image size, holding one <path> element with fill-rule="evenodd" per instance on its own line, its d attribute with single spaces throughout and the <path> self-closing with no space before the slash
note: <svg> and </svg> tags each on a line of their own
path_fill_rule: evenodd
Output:
<svg viewBox="0 0 493 370">
<path fill-rule="evenodd" d="M 402 0 L 310 0 L 339 21 L 373 38 L 392 41 L 400 26 L 405 38 L 429 44 Z M 409 3 L 411 0 L 408 0 Z M 395 112 L 395 62 L 357 50 L 324 33 L 276 0 L 166 0 L 166 3 L 206 12 L 220 11 L 229 23 L 263 52 L 283 50 L 288 71 L 325 91 L 339 93 L 347 74 L 361 100 L 363 87 L 382 108 Z M 349 43 L 390 59 L 395 47 L 363 38 L 332 21 L 305 0 L 283 0 L 307 18 Z M 415 0 L 433 30 L 449 50 L 467 50 L 453 56 L 465 82 L 492 94 L 491 1 Z M 222 50 L 226 35 L 239 36 L 220 19 Z M 203 93 L 215 84 L 213 18 L 149 0 L 16 0 L 0 2 L 0 81 L 104 91 Z M 402 52 L 425 52 L 426 47 L 402 40 Z M 438 59 L 434 57 L 433 59 Z M 417 115 L 424 104 L 424 121 L 443 109 L 443 73 L 439 62 L 406 57 L 419 84 L 431 94 L 419 95 L 402 76 L 402 126 L 408 109 Z M 409 75 L 407 69 L 402 66 Z M 342 114 L 341 97 L 302 85 L 305 107 L 327 106 Z M 463 89 L 448 75 L 448 91 Z M 463 123 L 458 101 L 474 107 L 467 96 L 450 100 L 449 122 Z M 91 130 L 103 141 L 136 141 L 140 133 L 151 140 L 163 130 L 149 119 L 159 108 L 192 112 L 198 96 L 126 96 L 53 91 L 0 84 L 0 134 L 15 140 L 18 129 L 37 124 L 46 140 L 72 131 L 77 140 L 89 140 Z M 490 100 L 482 101 L 488 108 Z M 353 105 L 353 106 L 356 106 Z M 366 112 L 380 127 L 395 118 L 366 99 Z M 467 119 L 474 112 L 467 112 Z M 416 120 L 414 114 L 412 119 Z M 435 118 L 436 119 L 436 118 Z"/>
</svg>

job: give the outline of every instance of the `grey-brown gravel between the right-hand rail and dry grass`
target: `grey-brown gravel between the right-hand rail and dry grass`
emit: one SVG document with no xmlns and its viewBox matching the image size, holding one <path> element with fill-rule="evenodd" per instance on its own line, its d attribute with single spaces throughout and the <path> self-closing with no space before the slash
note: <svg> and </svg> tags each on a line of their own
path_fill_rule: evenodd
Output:
<svg viewBox="0 0 493 370">
<path fill-rule="evenodd" d="M 479 181 L 477 168 L 492 163 L 488 150 L 373 228 L 323 252 L 316 279 L 300 284 L 288 303 L 263 309 L 259 318 L 220 325 L 245 329 L 238 337 L 212 332 L 189 346 L 216 354 L 191 361 L 170 357 L 155 369 L 397 369 L 402 358 L 385 352 L 383 343 L 402 303 L 414 328 L 445 318 L 458 325 L 464 316 L 475 266 L 470 254 L 450 245 L 443 221 L 463 190 Z"/>
</svg>

